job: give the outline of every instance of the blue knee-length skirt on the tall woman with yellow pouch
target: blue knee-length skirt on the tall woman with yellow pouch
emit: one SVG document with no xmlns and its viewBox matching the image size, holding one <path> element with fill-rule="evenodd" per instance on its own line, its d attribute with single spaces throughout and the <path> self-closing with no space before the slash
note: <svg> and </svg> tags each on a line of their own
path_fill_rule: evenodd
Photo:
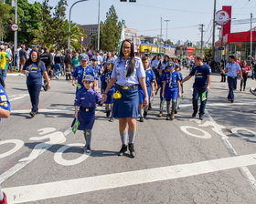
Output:
<svg viewBox="0 0 256 204">
<path fill-rule="evenodd" d="M 122 97 L 113 99 L 113 117 L 138 117 L 139 116 L 139 90 L 138 87 L 129 90 L 123 90 L 116 87 Z"/>
</svg>

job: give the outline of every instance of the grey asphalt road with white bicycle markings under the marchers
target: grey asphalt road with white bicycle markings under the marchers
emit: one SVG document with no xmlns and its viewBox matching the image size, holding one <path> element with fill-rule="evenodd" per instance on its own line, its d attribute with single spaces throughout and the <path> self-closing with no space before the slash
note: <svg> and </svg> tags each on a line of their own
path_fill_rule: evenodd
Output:
<svg viewBox="0 0 256 204">
<path fill-rule="evenodd" d="M 187 76 L 187 70 L 183 75 Z M 256 203 L 256 100 L 245 92 L 227 100 L 214 75 L 203 121 L 192 119 L 192 84 L 174 121 L 156 117 L 159 96 L 137 123 L 136 158 L 118 157 L 118 121 L 98 107 L 91 155 L 82 132 L 74 135 L 75 88 L 60 77 L 42 90 L 30 118 L 25 76 L 7 76 L 12 114 L 1 122 L 0 184 L 8 203 Z"/>
</svg>

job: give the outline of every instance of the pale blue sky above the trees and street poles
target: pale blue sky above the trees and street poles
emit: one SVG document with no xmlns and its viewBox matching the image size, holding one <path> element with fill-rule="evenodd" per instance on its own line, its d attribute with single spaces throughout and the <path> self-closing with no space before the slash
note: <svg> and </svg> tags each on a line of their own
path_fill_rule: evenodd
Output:
<svg viewBox="0 0 256 204">
<path fill-rule="evenodd" d="M 69 6 L 77 0 L 69 0 Z M 129 0 L 128 0 L 129 1 Z M 28 0 L 34 3 L 34 0 Z M 37 0 L 42 2 L 42 0 Z M 50 0 L 50 5 L 56 5 L 58 0 Z M 205 25 L 204 41 L 211 42 L 212 16 L 214 0 L 137 0 L 137 3 L 122 3 L 119 0 L 101 0 L 101 21 L 114 5 L 120 20 L 124 19 L 126 26 L 138 29 L 139 35 L 160 35 L 161 16 L 168 23 L 168 38 L 175 42 L 178 39 L 192 42 L 200 40 L 199 24 Z M 256 0 L 217 0 L 217 11 L 222 5 L 232 5 L 232 17 L 236 20 L 249 19 L 256 11 Z M 69 7 L 67 18 L 69 17 Z M 254 13 L 253 17 L 256 17 Z M 74 5 L 71 20 L 80 25 L 97 24 L 98 0 L 89 0 Z M 255 26 L 255 25 L 254 25 Z M 249 30 L 250 24 L 233 25 L 231 32 Z M 218 31 L 216 33 L 218 36 Z M 166 39 L 166 23 L 163 21 L 163 38 Z"/>
</svg>

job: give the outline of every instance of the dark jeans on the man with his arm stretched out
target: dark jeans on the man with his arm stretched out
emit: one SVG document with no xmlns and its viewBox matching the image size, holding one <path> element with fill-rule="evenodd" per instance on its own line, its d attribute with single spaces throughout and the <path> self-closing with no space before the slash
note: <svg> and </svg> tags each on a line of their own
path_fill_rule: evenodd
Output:
<svg viewBox="0 0 256 204">
<path fill-rule="evenodd" d="M 200 87 L 194 87 L 193 90 L 193 110 L 195 113 L 197 113 L 198 110 L 198 98 L 200 97 L 200 109 L 199 109 L 199 115 L 203 116 L 205 114 L 205 109 L 207 105 L 208 100 L 208 92 L 206 92 L 206 100 L 202 101 L 202 94 L 206 91 L 206 88 L 200 88 Z"/>
</svg>

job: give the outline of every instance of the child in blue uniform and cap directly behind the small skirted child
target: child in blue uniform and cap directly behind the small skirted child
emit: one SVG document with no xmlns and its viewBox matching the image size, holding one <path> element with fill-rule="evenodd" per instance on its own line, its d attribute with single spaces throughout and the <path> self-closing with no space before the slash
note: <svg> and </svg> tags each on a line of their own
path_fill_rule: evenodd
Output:
<svg viewBox="0 0 256 204">
<path fill-rule="evenodd" d="M 76 80 L 78 80 L 78 87 L 77 87 L 76 93 L 84 87 L 82 83 L 82 79 L 84 76 L 91 75 L 94 77 L 94 70 L 92 69 L 91 66 L 87 65 L 88 61 L 89 61 L 88 56 L 82 56 L 80 60 L 81 65 L 77 66 L 75 71 L 73 72 L 72 85 L 75 86 L 75 82 Z M 96 84 L 96 80 L 94 80 L 94 89 L 96 87 L 95 84 Z"/>
</svg>

